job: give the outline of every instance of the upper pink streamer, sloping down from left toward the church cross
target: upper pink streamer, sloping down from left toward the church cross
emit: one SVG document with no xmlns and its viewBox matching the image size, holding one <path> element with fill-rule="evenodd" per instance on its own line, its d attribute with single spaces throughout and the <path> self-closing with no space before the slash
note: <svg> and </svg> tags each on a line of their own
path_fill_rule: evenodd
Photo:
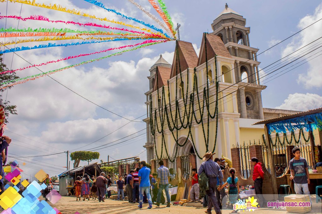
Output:
<svg viewBox="0 0 322 214">
<path fill-rule="evenodd" d="M 13 19 L 21 20 L 21 21 L 38 20 L 38 21 L 48 21 L 48 22 L 52 22 L 52 23 L 60 22 L 60 23 L 65 23 L 65 24 L 74 24 L 74 25 L 79 25 L 79 26 L 93 26 L 93 27 L 99 27 L 99 28 L 108 28 L 108 29 L 112 29 L 112 30 L 123 30 L 123 31 L 128 31 L 128 32 L 131 32 L 131 33 L 140 33 L 140 34 L 152 35 L 152 36 L 155 36 L 155 37 L 168 39 L 168 38 L 166 38 L 164 36 L 154 34 L 154 33 L 146 33 L 146 32 L 143 32 L 143 31 L 140 32 L 140 31 L 128 30 L 128 29 L 124 29 L 124 28 L 116 28 L 116 27 L 96 24 L 96 23 L 92 23 L 92 22 L 79 23 L 79 22 L 75 22 L 75 21 L 62 21 L 62 20 L 52 21 L 52 20 L 49 20 L 47 17 L 42 16 L 42 15 L 32 15 L 32 16 L 29 16 L 27 18 L 22 18 L 21 16 L 0 16 L 0 19 L 3 19 L 3 18 L 13 18 Z"/>
</svg>

